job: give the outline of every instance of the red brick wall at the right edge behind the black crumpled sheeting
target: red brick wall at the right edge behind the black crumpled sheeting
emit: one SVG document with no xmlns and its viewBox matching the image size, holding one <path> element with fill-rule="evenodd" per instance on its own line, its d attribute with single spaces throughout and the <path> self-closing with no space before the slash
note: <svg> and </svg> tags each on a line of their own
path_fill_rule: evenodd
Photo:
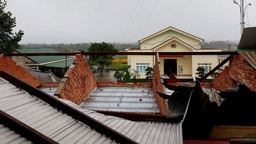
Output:
<svg viewBox="0 0 256 144">
<path fill-rule="evenodd" d="M 235 55 L 230 64 L 212 80 L 212 87 L 223 91 L 238 84 L 245 84 L 256 92 L 256 70 L 240 55 Z"/>
</svg>

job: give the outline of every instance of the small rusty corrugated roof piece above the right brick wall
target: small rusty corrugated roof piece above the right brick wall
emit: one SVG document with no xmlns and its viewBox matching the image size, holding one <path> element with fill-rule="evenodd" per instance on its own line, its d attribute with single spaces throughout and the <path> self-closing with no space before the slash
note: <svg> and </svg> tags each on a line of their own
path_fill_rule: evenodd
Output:
<svg viewBox="0 0 256 144">
<path fill-rule="evenodd" d="M 238 50 L 239 54 L 256 69 L 256 49 Z"/>
</svg>

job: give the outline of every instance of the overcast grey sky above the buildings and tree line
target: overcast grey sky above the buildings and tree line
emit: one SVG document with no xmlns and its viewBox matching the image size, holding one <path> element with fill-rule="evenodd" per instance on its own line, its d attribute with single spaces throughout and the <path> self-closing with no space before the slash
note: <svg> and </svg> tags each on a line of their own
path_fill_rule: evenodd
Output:
<svg viewBox="0 0 256 144">
<path fill-rule="evenodd" d="M 256 26 L 255 1 L 244 0 L 252 4 L 247 7 L 250 27 Z M 168 26 L 207 42 L 238 40 L 239 9 L 233 0 L 7 0 L 5 11 L 16 17 L 13 30 L 25 33 L 20 44 L 67 44 L 135 43 Z M 247 13 L 245 23 L 248 27 Z"/>
</svg>

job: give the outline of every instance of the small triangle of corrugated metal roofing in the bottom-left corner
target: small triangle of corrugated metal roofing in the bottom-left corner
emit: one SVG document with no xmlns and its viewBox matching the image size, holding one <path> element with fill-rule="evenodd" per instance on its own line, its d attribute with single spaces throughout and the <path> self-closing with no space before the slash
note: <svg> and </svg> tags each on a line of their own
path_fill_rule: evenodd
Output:
<svg viewBox="0 0 256 144">
<path fill-rule="evenodd" d="M 32 144 L 31 141 L 26 140 L 21 135 L 10 130 L 8 127 L 0 124 L 0 144 Z"/>
</svg>

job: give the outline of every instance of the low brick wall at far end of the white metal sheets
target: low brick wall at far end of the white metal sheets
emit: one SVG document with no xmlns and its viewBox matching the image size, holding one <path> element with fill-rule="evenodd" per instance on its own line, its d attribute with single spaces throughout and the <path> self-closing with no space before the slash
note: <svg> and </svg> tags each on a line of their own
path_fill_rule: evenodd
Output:
<svg viewBox="0 0 256 144">
<path fill-rule="evenodd" d="M 152 83 L 97 82 L 97 87 L 152 87 Z"/>
</svg>

